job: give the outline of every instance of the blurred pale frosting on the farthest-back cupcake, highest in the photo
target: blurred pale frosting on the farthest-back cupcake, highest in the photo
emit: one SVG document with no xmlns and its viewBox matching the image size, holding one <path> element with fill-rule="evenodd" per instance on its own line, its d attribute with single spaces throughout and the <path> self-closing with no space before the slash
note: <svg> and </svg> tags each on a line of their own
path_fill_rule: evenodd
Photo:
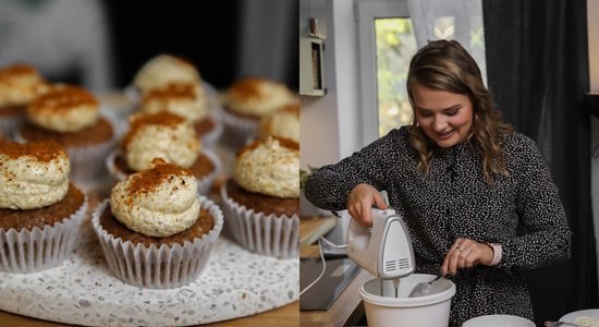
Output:
<svg viewBox="0 0 599 327">
<path fill-rule="evenodd" d="M 197 69 L 190 62 L 170 55 L 152 58 L 135 75 L 133 84 L 142 94 L 171 82 L 201 84 Z"/>
</svg>

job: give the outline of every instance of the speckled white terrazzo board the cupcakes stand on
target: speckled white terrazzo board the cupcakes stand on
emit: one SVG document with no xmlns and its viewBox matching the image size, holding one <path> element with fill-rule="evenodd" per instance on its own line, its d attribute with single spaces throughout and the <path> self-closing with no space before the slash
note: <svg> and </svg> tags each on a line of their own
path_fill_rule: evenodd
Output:
<svg viewBox="0 0 599 327">
<path fill-rule="evenodd" d="M 74 253 L 35 274 L 0 272 L 0 310 L 86 326 L 187 326 L 244 317 L 298 300 L 298 261 L 248 252 L 221 233 L 197 280 L 168 290 L 113 277 L 86 217 Z"/>
</svg>

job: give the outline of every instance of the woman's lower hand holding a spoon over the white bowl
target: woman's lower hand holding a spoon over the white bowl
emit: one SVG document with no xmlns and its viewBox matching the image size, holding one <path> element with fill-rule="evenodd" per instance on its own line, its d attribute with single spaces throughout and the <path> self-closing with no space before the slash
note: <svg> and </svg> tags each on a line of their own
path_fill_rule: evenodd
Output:
<svg viewBox="0 0 599 327">
<path fill-rule="evenodd" d="M 455 275 L 460 268 L 469 268 L 474 265 L 488 266 L 493 259 L 493 250 L 485 243 L 468 239 L 457 239 L 445 255 L 441 265 L 442 275 Z"/>
</svg>

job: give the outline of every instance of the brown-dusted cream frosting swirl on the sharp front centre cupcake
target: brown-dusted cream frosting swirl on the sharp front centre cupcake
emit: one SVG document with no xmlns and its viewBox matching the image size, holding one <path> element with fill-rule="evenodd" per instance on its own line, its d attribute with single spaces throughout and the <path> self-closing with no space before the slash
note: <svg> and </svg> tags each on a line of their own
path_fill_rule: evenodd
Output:
<svg viewBox="0 0 599 327">
<path fill-rule="evenodd" d="M 163 238 L 184 231 L 197 220 L 197 181 L 191 173 L 173 168 L 174 165 L 155 162 L 162 165 L 133 173 L 114 185 L 110 205 L 114 217 L 127 228 Z"/>
</svg>

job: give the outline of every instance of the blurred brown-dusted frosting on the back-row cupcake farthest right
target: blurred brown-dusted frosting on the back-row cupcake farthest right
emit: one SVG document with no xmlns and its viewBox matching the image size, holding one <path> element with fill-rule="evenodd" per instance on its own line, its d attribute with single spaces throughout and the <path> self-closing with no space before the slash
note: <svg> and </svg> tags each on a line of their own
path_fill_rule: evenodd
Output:
<svg viewBox="0 0 599 327">
<path fill-rule="evenodd" d="M 224 93 L 223 101 L 234 113 L 262 117 L 297 102 L 297 98 L 282 83 L 252 77 L 230 87 Z"/>
</svg>

